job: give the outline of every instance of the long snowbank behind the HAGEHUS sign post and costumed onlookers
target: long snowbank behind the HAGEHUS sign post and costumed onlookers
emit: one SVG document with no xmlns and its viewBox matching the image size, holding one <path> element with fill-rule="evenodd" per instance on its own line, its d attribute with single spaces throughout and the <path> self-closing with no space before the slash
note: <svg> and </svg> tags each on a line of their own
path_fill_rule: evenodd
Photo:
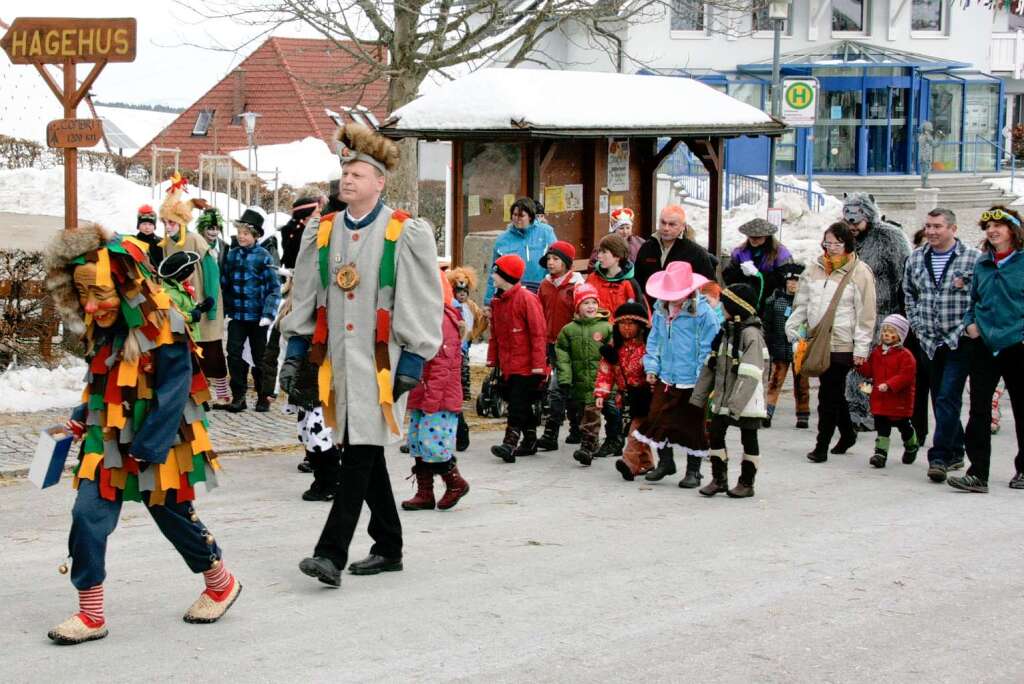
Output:
<svg viewBox="0 0 1024 684">
<path fill-rule="evenodd" d="M 78 171 L 78 215 L 84 221 L 102 223 L 122 233 L 135 232 L 138 208 L 148 204 L 159 210 L 167 190 L 161 183 L 157 197 L 148 185 L 139 185 L 127 178 L 105 171 Z M 199 196 L 191 188 L 193 197 Z M 221 214 L 232 219 L 242 215 L 245 207 L 223 193 L 203 193 L 203 199 L 220 209 Z M 228 213 L 228 210 L 230 213 Z M 63 216 L 63 167 L 52 169 L 0 169 L 0 212 L 12 214 L 39 214 Z M 196 212 L 196 217 L 199 217 Z M 276 225 L 284 225 L 288 214 L 276 214 Z M 267 216 L 264 229 L 267 236 L 274 231 L 274 215 Z M 163 226 L 157 226 L 163 234 Z M 228 223 L 228 233 L 234 226 Z"/>
</svg>

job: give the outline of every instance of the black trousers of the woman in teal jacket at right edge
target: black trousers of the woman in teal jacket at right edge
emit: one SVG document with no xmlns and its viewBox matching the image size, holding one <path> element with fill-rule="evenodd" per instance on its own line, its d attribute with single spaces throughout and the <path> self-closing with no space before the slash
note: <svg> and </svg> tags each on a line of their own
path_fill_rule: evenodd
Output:
<svg viewBox="0 0 1024 684">
<path fill-rule="evenodd" d="M 971 345 L 971 412 L 965 430 L 969 475 L 988 481 L 992 460 L 992 394 L 999 378 L 1007 383 L 1010 407 L 1017 429 L 1017 456 L 1014 465 L 1024 473 L 1024 344 L 1018 342 L 995 356 L 981 343 Z"/>
</svg>

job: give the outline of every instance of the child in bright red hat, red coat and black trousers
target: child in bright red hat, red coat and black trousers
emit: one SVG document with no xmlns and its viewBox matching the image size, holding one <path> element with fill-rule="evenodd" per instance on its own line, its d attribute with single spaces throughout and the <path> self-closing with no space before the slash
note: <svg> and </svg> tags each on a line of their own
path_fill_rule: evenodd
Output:
<svg viewBox="0 0 1024 684">
<path fill-rule="evenodd" d="M 487 366 L 501 369 L 502 392 L 509 408 L 505 438 L 490 453 L 505 463 L 537 454 L 534 402 L 548 381 L 547 325 L 537 295 L 519 284 L 525 270 L 521 258 L 506 254 L 495 260 L 490 274 L 498 294 L 490 300 Z"/>
</svg>

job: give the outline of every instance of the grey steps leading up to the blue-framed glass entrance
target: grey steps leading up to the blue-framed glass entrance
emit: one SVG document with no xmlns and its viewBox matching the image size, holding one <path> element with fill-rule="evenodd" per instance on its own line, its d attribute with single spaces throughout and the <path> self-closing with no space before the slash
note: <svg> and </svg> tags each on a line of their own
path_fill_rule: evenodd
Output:
<svg viewBox="0 0 1024 684">
<path fill-rule="evenodd" d="M 921 176 L 814 176 L 829 195 L 842 198 L 843 193 L 869 193 L 883 211 L 905 213 L 914 209 L 914 188 L 921 187 Z M 929 176 L 930 187 L 939 188 L 939 206 L 957 209 L 987 208 L 1010 204 L 1015 198 L 992 188 L 983 176 L 969 173 L 937 173 Z M 1024 179 L 1021 181 L 1024 188 Z"/>
</svg>

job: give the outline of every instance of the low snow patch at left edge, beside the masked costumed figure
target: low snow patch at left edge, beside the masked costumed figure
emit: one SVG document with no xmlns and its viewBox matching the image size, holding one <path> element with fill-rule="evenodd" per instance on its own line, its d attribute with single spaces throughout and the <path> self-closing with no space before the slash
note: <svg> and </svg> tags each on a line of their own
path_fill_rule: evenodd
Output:
<svg viewBox="0 0 1024 684">
<path fill-rule="evenodd" d="M 0 374 L 0 413 L 74 407 L 82 400 L 85 362 L 79 358 L 55 369 L 24 368 Z"/>
</svg>

